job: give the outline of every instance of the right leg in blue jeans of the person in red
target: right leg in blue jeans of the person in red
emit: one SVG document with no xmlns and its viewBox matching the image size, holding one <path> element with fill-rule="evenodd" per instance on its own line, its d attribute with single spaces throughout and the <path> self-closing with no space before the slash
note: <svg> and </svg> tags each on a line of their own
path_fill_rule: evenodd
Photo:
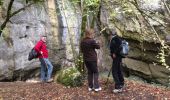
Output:
<svg viewBox="0 0 170 100">
<path fill-rule="evenodd" d="M 46 65 L 47 65 L 47 80 L 49 80 L 51 78 L 51 75 L 52 75 L 53 65 L 51 64 L 49 59 L 45 58 L 44 60 L 45 60 Z"/>
</svg>

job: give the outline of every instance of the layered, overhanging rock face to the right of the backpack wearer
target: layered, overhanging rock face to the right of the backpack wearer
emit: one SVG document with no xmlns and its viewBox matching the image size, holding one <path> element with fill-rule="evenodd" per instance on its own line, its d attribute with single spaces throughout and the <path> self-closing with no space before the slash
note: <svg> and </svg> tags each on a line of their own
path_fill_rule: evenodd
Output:
<svg viewBox="0 0 170 100">
<path fill-rule="evenodd" d="M 160 5 L 160 0 L 156 2 L 149 1 L 152 0 L 142 0 L 139 8 L 144 12 L 155 11 L 161 13 L 164 10 Z M 118 34 L 129 42 L 130 52 L 128 57 L 123 60 L 128 69 L 128 74 L 140 76 L 150 82 L 169 85 L 170 71 L 164 66 L 161 66 L 159 63 L 160 59 L 156 57 L 161 44 L 160 41 L 154 38 L 153 27 L 148 26 L 149 29 L 145 28 L 147 26 L 144 23 L 145 20 L 140 16 L 140 12 L 136 13 L 137 10 L 133 8 L 134 5 L 131 4 L 128 8 L 125 3 L 121 5 L 118 2 L 119 0 L 103 1 L 100 20 L 103 26 L 111 29 L 115 28 Z M 125 7 L 128 10 L 124 10 L 121 7 Z M 133 8 L 134 12 L 130 8 Z M 135 17 L 135 14 L 138 15 Z M 140 18 L 139 21 L 136 19 L 137 17 Z M 162 27 L 158 22 L 162 22 L 163 20 L 158 18 L 158 16 L 155 17 L 157 21 L 148 19 L 148 22 L 151 26 L 154 26 L 160 37 L 161 35 L 166 36 L 165 31 L 168 31 L 168 29 L 165 28 L 164 31 L 161 31 Z M 141 32 L 144 28 L 147 31 Z M 168 36 L 166 38 L 168 40 Z M 161 39 L 164 40 L 164 38 Z M 167 64 L 169 64 L 169 57 L 166 60 Z"/>
</svg>

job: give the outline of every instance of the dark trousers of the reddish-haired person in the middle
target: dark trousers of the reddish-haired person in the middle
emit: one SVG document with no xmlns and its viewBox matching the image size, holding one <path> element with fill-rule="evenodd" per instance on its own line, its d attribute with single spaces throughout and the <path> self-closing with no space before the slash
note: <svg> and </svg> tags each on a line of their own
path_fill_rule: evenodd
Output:
<svg viewBox="0 0 170 100">
<path fill-rule="evenodd" d="M 89 88 L 99 88 L 99 72 L 97 67 L 97 61 L 85 61 L 88 70 L 88 86 Z"/>
</svg>

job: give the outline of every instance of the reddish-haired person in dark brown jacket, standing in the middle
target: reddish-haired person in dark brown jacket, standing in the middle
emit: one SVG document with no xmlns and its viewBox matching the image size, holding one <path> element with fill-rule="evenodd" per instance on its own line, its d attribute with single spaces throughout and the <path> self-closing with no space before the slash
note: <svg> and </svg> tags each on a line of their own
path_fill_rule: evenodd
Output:
<svg viewBox="0 0 170 100">
<path fill-rule="evenodd" d="M 98 77 L 98 67 L 97 67 L 97 53 L 95 49 L 100 49 L 99 43 L 93 39 L 94 30 L 86 29 L 85 38 L 81 41 L 80 47 L 83 53 L 83 59 L 88 70 L 88 90 L 98 92 L 101 90 L 99 86 Z"/>
</svg>

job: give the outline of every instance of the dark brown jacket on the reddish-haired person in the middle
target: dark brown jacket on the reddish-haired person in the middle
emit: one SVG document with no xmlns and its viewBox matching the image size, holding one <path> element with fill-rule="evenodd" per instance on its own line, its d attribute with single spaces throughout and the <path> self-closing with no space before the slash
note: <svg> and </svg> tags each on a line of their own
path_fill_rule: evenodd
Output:
<svg viewBox="0 0 170 100">
<path fill-rule="evenodd" d="M 85 61 L 97 61 L 95 49 L 100 49 L 100 45 L 92 38 L 84 38 L 80 44 L 81 52 Z"/>
</svg>

